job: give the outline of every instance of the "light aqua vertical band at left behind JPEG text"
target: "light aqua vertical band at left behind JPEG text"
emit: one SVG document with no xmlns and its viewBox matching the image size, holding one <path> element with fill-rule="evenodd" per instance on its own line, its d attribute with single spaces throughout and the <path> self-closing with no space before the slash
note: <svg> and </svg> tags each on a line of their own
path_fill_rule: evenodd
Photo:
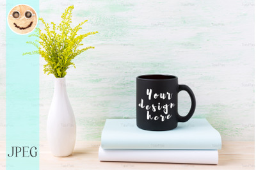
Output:
<svg viewBox="0 0 256 170">
<path fill-rule="evenodd" d="M 20 1 L 6 0 L 6 18 L 17 4 Z M 26 0 L 22 4 L 34 8 L 39 16 L 39 1 Z M 29 37 L 32 33 L 14 33 L 6 19 L 6 169 L 39 169 L 39 55 L 22 56 L 36 50 L 26 43 L 36 40 Z M 8 157 L 13 146 L 22 149 L 18 157 Z M 33 146 L 36 150 L 31 150 Z M 31 157 L 30 150 L 36 157 Z"/>
</svg>

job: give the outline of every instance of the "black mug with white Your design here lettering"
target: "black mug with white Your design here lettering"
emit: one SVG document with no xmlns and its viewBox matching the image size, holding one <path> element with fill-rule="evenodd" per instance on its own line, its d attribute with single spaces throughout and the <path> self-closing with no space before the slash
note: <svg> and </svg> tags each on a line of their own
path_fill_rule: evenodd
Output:
<svg viewBox="0 0 256 170">
<path fill-rule="evenodd" d="M 172 130 L 178 122 L 188 121 L 196 108 L 193 91 L 178 84 L 173 75 L 140 75 L 136 79 L 137 126 L 145 130 Z M 188 92 L 191 108 L 186 116 L 178 113 L 178 93 Z"/>
</svg>

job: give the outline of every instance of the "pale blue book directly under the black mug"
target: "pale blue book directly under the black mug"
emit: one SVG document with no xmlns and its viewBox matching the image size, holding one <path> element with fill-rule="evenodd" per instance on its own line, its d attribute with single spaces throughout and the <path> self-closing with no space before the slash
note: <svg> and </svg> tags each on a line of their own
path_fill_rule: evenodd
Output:
<svg viewBox="0 0 256 170">
<path fill-rule="evenodd" d="M 103 149 L 220 150 L 221 136 L 206 119 L 192 118 L 167 131 L 137 127 L 136 119 L 108 119 L 102 130 Z"/>
</svg>

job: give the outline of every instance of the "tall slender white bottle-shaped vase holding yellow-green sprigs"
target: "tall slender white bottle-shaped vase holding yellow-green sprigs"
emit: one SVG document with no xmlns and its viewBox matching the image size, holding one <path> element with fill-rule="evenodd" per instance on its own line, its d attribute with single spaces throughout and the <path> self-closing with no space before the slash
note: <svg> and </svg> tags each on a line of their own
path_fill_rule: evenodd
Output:
<svg viewBox="0 0 256 170">
<path fill-rule="evenodd" d="M 64 78 L 55 78 L 54 95 L 47 119 L 47 141 L 56 157 L 72 154 L 76 143 L 76 120 Z"/>
</svg>

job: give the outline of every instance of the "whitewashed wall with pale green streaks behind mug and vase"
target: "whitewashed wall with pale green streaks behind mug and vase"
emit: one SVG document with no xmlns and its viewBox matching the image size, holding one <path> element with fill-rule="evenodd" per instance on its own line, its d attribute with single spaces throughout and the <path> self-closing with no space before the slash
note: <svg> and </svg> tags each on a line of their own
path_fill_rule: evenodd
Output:
<svg viewBox="0 0 256 170">
<path fill-rule="evenodd" d="M 40 17 L 60 22 L 72 4 L 74 25 L 89 20 L 81 33 L 99 31 L 85 41 L 95 49 L 77 56 L 76 69 L 66 77 L 78 140 L 100 140 L 106 118 L 135 118 L 136 76 L 146 73 L 177 75 L 190 86 L 197 100 L 194 118 L 207 118 L 223 140 L 254 140 L 254 1 L 47 0 L 40 1 Z M 54 77 L 42 72 L 43 65 L 41 58 L 40 139 L 45 140 Z M 189 106 L 188 95 L 180 93 L 180 114 Z"/>
</svg>

